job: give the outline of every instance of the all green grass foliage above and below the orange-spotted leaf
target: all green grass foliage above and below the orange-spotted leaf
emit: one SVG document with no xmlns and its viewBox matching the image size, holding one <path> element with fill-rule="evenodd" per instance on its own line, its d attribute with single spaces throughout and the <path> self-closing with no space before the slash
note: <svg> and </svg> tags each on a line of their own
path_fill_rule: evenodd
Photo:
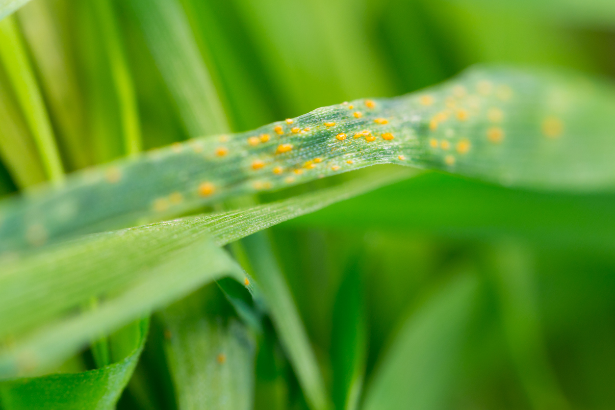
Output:
<svg viewBox="0 0 615 410">
<path fill-rule="evenodd" d="M 608 81 L 614 28 L 607 0 L 33 0 L 0 22 L 0 194 L 475 63 Z M 554 187 L 378 165 L 5 254 L 0 408 L 613 408 L 613 186 Z"/>
</svg>

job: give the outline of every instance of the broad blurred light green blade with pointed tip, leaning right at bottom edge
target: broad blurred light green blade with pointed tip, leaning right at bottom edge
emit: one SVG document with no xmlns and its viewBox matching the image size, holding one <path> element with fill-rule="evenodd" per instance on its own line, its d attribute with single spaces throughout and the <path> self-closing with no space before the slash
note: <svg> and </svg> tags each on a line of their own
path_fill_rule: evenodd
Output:
<svg viewBox="0 0 615 410">
<path fill-rule="evenodd" d="M 454 382 L 478 291 L 460 275 L 403 323 L 365 396 L 365 410 L 440 409 Z"/>
</svg>

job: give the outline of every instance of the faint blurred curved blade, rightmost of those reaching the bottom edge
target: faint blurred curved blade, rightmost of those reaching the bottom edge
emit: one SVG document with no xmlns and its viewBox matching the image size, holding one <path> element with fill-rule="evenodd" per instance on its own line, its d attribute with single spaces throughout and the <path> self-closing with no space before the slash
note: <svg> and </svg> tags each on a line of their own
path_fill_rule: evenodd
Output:
<svg viewBox="0 0 615 410">
<path fill-rule="evenodd" d="M 523 246 L 509 242 L 494 246 L 490 255 L 504 335 L 532 407 L 568 409 L 544 345 L 528 253 Z"/>
</svg>

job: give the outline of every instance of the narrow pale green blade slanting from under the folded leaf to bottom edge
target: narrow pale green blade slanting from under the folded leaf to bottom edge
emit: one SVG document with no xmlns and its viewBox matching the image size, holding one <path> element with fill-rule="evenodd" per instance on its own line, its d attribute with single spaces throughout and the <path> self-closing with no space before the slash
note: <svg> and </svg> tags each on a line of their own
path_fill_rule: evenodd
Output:
<svg viewBox="0 0 615 410">
<path fill-rule="evenodd" d="M 242 242 L 245 244 L 245 251 L 255 275 L 258 272 L 255 280 L 260 285 L 271 320 L 286 350 L 288 360 L 295 369 L 310 408 L 317 410 L 329 408 L 325 385 L 309 344 L 308 334 L 301 322 L 288 284 L 273 257 L 271 245 L 268 241 L 262 240 L 260 234 L 250 235 Z"/>
</svg>

